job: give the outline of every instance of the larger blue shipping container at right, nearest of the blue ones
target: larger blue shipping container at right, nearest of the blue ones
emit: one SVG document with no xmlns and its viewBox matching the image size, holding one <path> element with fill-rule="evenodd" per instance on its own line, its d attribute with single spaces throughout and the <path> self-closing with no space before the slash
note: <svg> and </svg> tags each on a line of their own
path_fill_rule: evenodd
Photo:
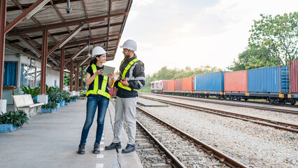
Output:
<svg viewBox="0 0 298 168">
<path fill-rule="evenodd" d="M 248 92 L 288 93 L 289 67 L 272 66 L 248 70 Z"/>
</svg>

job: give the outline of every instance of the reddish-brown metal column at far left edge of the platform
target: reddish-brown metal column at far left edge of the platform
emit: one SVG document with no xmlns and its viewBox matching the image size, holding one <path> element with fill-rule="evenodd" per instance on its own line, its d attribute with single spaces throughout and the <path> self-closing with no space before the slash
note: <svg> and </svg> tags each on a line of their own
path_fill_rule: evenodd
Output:
<svg viewBox="0 0 298 168">
<path fill-rule="evenodd" d="M 3 68 L 5 50 L 6 0 L 0 2 L 0 99 L 3 91 Z"/>
</svg>

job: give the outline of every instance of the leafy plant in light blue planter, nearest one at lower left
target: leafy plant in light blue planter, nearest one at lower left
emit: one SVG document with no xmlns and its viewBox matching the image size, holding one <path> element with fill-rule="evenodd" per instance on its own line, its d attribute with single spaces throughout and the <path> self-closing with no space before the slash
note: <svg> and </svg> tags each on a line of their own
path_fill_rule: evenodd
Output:
<svg viewBox="0 0 298 168">
<path fill-rule="evenodd" d="M 13 132 L 22 127 L 24 123 L 28 124 L 27 114 L 22 110 L 8 111 L 0 116 L 0 132 Z"/>
</svg>

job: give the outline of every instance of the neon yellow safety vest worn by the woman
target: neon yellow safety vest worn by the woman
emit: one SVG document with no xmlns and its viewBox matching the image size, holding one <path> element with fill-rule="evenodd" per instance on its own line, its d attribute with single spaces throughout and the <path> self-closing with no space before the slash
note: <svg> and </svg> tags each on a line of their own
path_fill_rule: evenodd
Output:
<svg viewBox="0 0 298 168">
<path fill-rule="evenodd" d="M 94 64 L 92 64 L 91 67 L 92 67 L 93 73 L 95 73 L 97 71 L 97 66 L 94 65 Z M 111 98 L 111 94 L 109 94 L 108 92 L 106 92 L 106 85 L 108 83 L 108 76 L 104 76 L 104 80 L 101 83 L 101 90 L 99 90 L 99 77 L 98 76 L 96 76 L 94 78 L 94 81 L 93 82 L 94 82 L 93 90 L 89 90 L 87 92 L 87 94 L 86 94 L 87 96 L 89 94 L 95 94 L 95 95 L 96 94 L 99 94 L 99 95 L 104 96 L 104 97 L 106 97 L 108 99 Z"/>
</svg>

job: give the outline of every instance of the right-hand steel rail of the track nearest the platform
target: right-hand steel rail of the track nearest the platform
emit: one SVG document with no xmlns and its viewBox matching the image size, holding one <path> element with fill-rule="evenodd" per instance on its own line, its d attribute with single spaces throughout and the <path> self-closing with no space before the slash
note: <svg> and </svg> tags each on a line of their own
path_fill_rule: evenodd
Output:
<svg viewBox="0 0 298 168">
<path fill-rule="evenodd" d="M 180 129 L 174 127 L 173 125 L 170 125 L 169 123 L 166 123 L 164 120 L 162 120 L 160 118 L 157 118 L 156 116 L 152 115 L 148 111 L 145 111 L 144 109 L 141 109 L 139 106 L 137 106 L 136 109 L 138 109 L 139 111 L 143 111 L 143 113 L 146 113 L 148 116 L 150 116 L 152 118 L 155 118 L 155 120 L 158 120 L 163 125 L 166 125 L 166 127 L 170 127 L 172 130 L 175 130 L 179 134 L 182 134 L 186 139 L 188 139 L 190 141 L 193 141 L 194 144 L 196 144 L 196 146 L 201 147 L 204 151 L 206 151 L 206 153 L 208 153 L 209 155 L 213 155 L 215 158 L 220 160 L 220 162 L 225 163 L 229 167 L 233 167 L 233 168 L 247 167 L 246 165 L 243 165 L 238 160 L 235 160 L 235 159 L 229 157 L 228 155 L 225 155 L 225 153 L 222 153 L 222 152 L 216 150 L 215 148 L 213 148 L 212 146 L 209 146 L 208 144 L 205 144 L 203 141 L 200 141 L 199 139 L 196 139 L 196 138 L 192 137 L 190 134 L 187 134 L 186 132 L 183 132 L 183 130 L 180 130 Z"/>
</svg>

